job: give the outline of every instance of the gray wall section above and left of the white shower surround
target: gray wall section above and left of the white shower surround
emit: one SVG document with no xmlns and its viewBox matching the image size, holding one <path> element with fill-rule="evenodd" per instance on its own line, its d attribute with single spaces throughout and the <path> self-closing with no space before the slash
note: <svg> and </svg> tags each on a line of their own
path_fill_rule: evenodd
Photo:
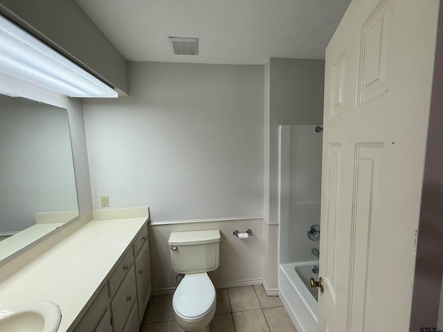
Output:
<svg viewBox="0 0 443 332">
<path fill-rule="evenodd" d="M 269 215 L 271 223 L 278 221 L 278 126 L 280 124 L 323 123 L 323 89 L 325 62 L 310 59 L 269 59 L 269 135 L 264 136 L 264 147 L 269 144 L 269 157 L 264 167 L 269 176 L 264 185 L 269 187 Z M 266 70 L 265 66 L 265 70 Z M 266 95 L 266 92 L 265 92 Z M 266 105 L 265 105 L 266 111 Z M 269 143 L 268 143 L 269 142 Z M 265 174 L 266 181 L 266 174 Z M 266 197 L 266 194 L 265 194 Z"/>
</svg>

